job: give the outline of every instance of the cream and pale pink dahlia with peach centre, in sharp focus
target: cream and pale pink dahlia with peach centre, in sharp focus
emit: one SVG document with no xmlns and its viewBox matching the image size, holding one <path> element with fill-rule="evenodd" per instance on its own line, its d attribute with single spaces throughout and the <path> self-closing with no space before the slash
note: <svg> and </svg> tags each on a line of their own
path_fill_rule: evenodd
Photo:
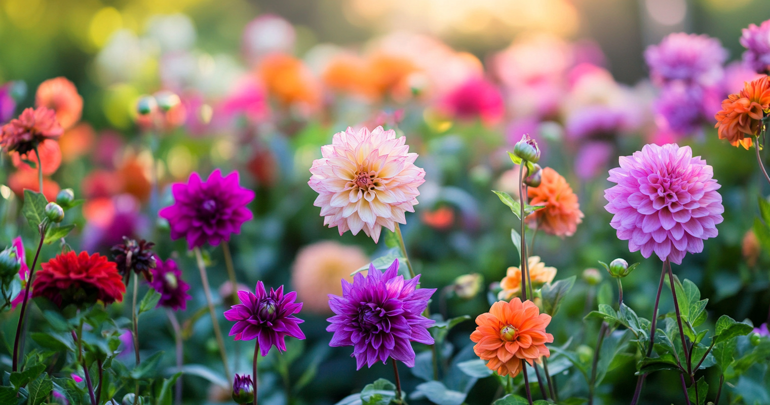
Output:
<svg viewBox="0 0 770 405">
<path fill-rule="evenodd" d="M 425 170 L 414 166 L 417 153 L 409 153 L 406 142 L 381 126 L 334 134 L 308 182 L 319 194 L 313 205 L 321 207 L 323 225 L 336 226 L 340 235 L 363 229 L 377 243 L 383 226 L 393 231 L 395 223 L 407 223 L 404 212 L 414 212 Z"/>
</svg>

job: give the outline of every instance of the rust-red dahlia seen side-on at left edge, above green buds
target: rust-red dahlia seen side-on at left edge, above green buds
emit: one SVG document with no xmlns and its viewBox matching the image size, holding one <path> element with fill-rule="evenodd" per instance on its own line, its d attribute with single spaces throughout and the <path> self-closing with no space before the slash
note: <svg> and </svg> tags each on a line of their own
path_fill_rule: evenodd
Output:
<svg viewBox="0 0 770 405">
<path fill-rule="evenodd" d="M 45 139 L 59 139 L 62 133 L 64 129 L 56 120 L 54 110 L 45 107 L 25 109 L 18 119 L 12 119 L 0 129 L 0 147 L 6 152 L 25 155 Z"/>
</svg>

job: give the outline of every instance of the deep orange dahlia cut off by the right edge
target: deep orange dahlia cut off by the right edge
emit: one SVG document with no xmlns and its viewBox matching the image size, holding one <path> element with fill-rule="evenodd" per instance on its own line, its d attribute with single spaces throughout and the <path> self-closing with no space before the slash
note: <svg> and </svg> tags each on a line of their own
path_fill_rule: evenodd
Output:
<svg viewBox="0 0 770 405">
<path fill-rule="evenodd" d="M 752 136 L 758 135 L 765 112 L 770 111 L 770 79 L 764 76 L 745 82 L 738 94 L 728 95 L 722 101 L 717 119 L 719 139 L 727 139 L 732 146 L 745 149 L 752 146 Z M 748 137 L 747 137 L 748 136 Z"/>
</svg>

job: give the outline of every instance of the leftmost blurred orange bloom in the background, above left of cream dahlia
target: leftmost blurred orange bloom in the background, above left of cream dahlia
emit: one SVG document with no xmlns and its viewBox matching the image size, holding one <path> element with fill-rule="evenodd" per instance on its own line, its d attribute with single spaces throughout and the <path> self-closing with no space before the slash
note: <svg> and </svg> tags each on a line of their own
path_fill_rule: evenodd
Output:
<svg viewBox="0 0 770 405">
<path fill-rule="evenodd" d="M 316 80 L 301 59 L 284 53 L 267 55 L 259 65 L 259 76 L 284 106 L 300 103 L 313 108 L 320 102 Z"/>
</svg>

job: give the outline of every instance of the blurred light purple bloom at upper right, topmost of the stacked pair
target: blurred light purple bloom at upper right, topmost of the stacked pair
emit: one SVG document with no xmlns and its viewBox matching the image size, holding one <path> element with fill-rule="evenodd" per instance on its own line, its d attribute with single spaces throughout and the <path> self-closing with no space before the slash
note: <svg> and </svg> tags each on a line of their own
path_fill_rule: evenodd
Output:
<svg viewBox="0 0 770 405">
<path fill-rule="evenodd" d="M 672 80 L 715 85 L 721 80 L 727 56 L 718 39 L 685 32 L 670 34 L 644 51 L 650 75 L 658 85 Z"/>
</svg>

